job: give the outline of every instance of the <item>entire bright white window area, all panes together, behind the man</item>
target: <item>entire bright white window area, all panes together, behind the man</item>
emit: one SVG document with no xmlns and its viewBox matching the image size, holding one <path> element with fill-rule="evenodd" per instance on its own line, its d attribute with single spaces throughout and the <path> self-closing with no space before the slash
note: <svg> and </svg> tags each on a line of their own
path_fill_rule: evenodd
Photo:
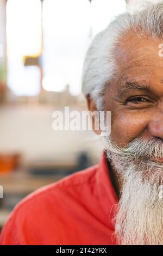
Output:
<svg viewBox="0 0 163 256">
<path fill-rule="evenodd" d="M 82 66 L 93 36 L 126 9 L 124 0 L 8 0 L 8 86 L 34 96 L 41 86 L 80 93 Z"/>
</svg>

